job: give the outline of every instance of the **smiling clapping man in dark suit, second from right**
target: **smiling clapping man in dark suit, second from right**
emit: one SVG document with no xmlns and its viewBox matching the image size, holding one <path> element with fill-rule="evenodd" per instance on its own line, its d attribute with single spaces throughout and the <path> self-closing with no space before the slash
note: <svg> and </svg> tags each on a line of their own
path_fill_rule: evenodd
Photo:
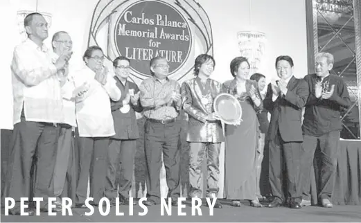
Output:
<svg viewBox="0 0 361 223">
<path fill-rule="evenodd" d="M 300 182 L 302 108 L 308 98 L 308 84 L 293 76 L 289 56 L 276 58 L 276 71 L 281 80 L 268 85 L 264 107 L 271 113 L 267 139 L 270 143 L 270 184 L 273 200 L 268 207 L 281 206 L 288 197 L 290 208 L 301 208 Z M 285 170 L 283 170 L 285 163 Z M 283 195 L 282 177 L 287 172 L 288 195 Z"/>
</svg>

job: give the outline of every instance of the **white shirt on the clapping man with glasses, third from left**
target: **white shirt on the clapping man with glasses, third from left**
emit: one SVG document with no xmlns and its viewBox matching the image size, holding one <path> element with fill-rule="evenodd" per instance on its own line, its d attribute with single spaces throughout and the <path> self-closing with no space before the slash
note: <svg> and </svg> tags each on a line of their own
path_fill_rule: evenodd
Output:
<svg viewBox="0 0 361 223">
<path fill-rule="evenodd" d="M 114 74 L 108 73 L 105 85 L 95 80 L 95 75 L 96 73 L 88 66 L 72 75 L 76 88 L 86 83 L 88 89 L 82 97 L 76 99 L 79 136 L 114 136 L 114 122 L 109 98 L 115 101 L 119 100 L 121 90 L 116 87 Z"/>
</svg>

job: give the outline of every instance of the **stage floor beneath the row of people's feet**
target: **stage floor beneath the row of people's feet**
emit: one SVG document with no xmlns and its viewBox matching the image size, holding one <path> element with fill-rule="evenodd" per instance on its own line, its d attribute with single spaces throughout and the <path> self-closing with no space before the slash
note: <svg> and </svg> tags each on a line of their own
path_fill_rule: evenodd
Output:
<svg viewBox="0 0 361 223">
<path fill-rule="evenodd" d="M 1 222 L 360 222 L 361 206 L 334 206 L 323 208 L 308 206 L 301 209 L 290 208 L 253 208 L 247 202 L 243 206 L 232 207 L 229 202 L 222 201 L 223 208 L 215 209 L 209 215 L 209 208 L 202 206 L 202 216 L 191 216 L 191 207 L 182 209 L 186 216 L 177 216 L 177 208 L 173 207 L 172 216 L 161 216 L 161 206 L 148 207 L 146 216 L 137 216 L 143 209 L 134 206 L 134 216 L 127 214 L 128 206 L 121 206 L 124 216 L 115 216 L 112 207 L 108 216 L 101 216 L 98 209 L 92 216 L 84 216 L 88 209 L 74 208 L 73 216 L 5 216 L 1 210 Z"/>
</svg>

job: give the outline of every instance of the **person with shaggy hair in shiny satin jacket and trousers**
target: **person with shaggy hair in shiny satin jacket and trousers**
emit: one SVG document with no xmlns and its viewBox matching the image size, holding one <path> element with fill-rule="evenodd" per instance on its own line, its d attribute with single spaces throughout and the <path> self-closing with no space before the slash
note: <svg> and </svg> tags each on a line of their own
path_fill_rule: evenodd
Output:
<svg viewBox="0 0 361 223">
<path fill-rule="evenodd" d="M 189 154 L 190 197 L 201 197 L 200 179 L 204 152 L 207 153 L 207 197 L 218 195 L 220 144 L 224 141 L 222 125 L 218 114 L 213 111 L 213 100 L 220 93 L 222 84 L 211 80 L 215 61 L 211 55 L 202 54 L 195 59 L 196 78 L 182 84 L 183 108 L 189 115 L 187 141 L 191 146 Z M 215 208 L 222 208 L 215 202 Z"/>
</svg>

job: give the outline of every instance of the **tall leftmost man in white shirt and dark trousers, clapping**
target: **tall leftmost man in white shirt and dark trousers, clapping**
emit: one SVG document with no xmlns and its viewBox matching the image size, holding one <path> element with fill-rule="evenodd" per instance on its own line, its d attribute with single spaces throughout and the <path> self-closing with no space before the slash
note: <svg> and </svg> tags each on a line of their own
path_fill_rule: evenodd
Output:
<svg viewBox="0 0 361 223">
<path fill-rule="evenodd" d="M 58 72 L 64 70 L 70 59 L 70 54 L 64 53 L 53 62 L 51 51 L 44 44 L 48 24 L 41 14 L 27 15 L 24 26 L 28 38 L 15 47 L 11 64 L 14 131 L 6 179 L 6 197 L 16 202 L 11 215 L 20 215 L 22 197 L 42 198 L 41 211 L 48 211 L 48 198 L 54 197 L 58 123 L 62 121 Z M 35 213 L 31 205 L 25 212 Z"/>
</svg>

